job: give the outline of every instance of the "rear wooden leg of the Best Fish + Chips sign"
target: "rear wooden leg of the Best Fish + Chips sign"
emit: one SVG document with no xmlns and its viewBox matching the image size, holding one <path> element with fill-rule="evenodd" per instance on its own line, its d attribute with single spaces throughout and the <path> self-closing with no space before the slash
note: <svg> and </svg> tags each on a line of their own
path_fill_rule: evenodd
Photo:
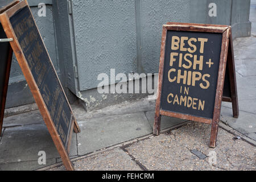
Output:
<svg viewBox="0 0 256 182">
<path fill-rule="evenodd" d="M 238 97 L 237 97 L 237 81 L 236 81 L 236 68 L 234 63 L 234 50 L 233 50 L 233 39 L 232 33 L 230 32 L 230 41 L 229 41 L 229 51 L 228 51 L 228 69 L 229 69 L 229 80 L 230 80 L 230 91 L 232 98 L 232 109 L 233 117 L 238 118 L 239 108 L 238 108 Z"/>
</svg>

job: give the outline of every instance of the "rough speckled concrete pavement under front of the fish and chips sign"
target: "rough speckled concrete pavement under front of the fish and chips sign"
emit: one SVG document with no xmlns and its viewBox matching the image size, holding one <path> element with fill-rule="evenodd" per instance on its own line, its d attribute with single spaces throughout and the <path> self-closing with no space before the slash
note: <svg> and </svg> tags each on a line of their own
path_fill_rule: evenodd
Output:
<svg viewBox="0 0 256 182">
<path fill-rule="evenodd" d="M 218 146 L 209 148 L 210 125 L 193 122 L 158 137 L 138 140 L 74 162 L 76 170 L 253 170 L 256 148 L 220 129 Z M 192 154 L 197 150 L 206 158 Z M 63 166 L 48 169 L 64 170 Z"/>
</svg>

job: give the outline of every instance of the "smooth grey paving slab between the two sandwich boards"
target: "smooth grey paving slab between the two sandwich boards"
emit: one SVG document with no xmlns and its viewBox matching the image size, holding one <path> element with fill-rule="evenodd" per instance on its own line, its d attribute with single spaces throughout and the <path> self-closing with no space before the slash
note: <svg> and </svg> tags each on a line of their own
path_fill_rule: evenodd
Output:
<svg viewBox="0 0 256 182">
<path fill-rule="evenodd" d="M 79 122 L 79 126 L 79 155 L 152 133 L 146 115 L 142 112 L 85 119 Z"/>
</svg>

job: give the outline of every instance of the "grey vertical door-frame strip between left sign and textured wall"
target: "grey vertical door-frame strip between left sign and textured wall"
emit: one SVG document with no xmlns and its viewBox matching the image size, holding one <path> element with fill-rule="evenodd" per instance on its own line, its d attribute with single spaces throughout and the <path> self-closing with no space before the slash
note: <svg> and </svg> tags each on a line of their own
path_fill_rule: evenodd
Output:
<svg viewBox="0 0 256 182">
<path fill-rule="evenodd" d="M 68 89 L 77 94 L 77 78 L 74 66 L 76 65 L 75 40 L 73 34 L 73 18 L 68 12 L 68 1 L 53 1 L 53 17 L 55 19 L 57 47 L 60 60 L 60 72 L 65 82 L 65 92 Z M 64 84 L 63 84 L 64 85 Z M 68 89 L 67 89 L 68 88 Z"/>
</svg>

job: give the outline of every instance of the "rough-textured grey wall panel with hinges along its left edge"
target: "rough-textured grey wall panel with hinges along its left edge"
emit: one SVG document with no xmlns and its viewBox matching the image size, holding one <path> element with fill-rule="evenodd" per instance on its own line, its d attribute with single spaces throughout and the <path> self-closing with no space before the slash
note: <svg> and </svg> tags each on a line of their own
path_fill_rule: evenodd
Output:
<svg viewBox="0 0 256 182">
<path fill-rule="evenodd" d="M 80 91 L 96 88 L 98 74 L 137 70 L 135 2 L 73 0 Z"/>
</svg>

